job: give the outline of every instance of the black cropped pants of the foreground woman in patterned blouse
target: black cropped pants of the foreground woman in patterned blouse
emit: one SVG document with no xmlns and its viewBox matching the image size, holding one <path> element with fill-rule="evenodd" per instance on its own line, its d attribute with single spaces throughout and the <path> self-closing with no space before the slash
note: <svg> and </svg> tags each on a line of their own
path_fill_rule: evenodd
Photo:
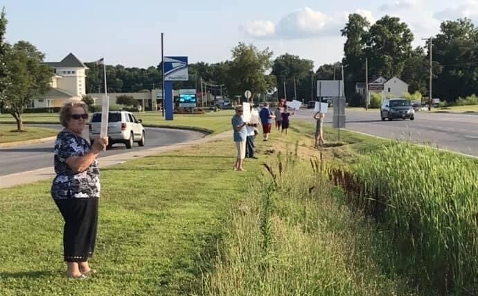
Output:
<svg viewBox="0 0 478 296">
<path fill-rule="evenodd" d="M 64 261 L 88 261 L 95 249 L 98 198 L 69 198 L 55 202 L 64 219 Z"/>
</svg>

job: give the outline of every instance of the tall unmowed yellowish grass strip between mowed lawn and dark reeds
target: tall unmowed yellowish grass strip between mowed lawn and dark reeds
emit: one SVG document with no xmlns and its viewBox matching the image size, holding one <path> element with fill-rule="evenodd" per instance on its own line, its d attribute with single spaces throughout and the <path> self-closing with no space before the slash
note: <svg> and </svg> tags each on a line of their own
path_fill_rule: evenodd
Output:
<svg viewBox="0 0 478 296">
<path fill-rule="evenodd" d="M 409 295 L 375 223 L 311 164 L 287 153 L 264 165 L 230 214 L 202 295 Z"/>
</svg>

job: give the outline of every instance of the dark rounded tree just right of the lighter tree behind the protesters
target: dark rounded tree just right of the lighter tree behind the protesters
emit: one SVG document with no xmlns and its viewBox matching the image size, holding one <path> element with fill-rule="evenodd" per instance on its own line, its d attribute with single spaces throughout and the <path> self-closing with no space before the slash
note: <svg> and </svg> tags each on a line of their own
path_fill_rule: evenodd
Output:
<svg viewBox="0 0 478 296">
<path fill-rule="evenodd" d="M 301 59 L 297 55 L 285 53 L 274 60 L 272 75 L 276 76 L 278 95 L 284 98 L 283 83 L 286 82 L 287 94 L 294 96 L 294 80 L 297 98 L 310 97 L 310 72 L 314 69 L 312 60 Z M 304 83 L 306 82 L 306 83 Z M 289 95 L 289 97 L 292 97 Z"/>
</svg>

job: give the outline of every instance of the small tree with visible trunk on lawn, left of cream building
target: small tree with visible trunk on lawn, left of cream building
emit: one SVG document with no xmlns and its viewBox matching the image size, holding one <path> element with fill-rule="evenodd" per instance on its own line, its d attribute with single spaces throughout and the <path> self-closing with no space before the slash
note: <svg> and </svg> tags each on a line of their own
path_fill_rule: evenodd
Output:
<svg viewBox="0 0 478 296">
<path fill-rule="evenodd" d="M 9 75 L 4 103 L 17 121 L 19 132 L 23 129 L 21 114 L 24 108 L 50 87 L 53 71 L 43 64 L 43 60 L 44 53 L 25 41 L 17 42 L 8 53 L 6 67 Z"/>
</svg>

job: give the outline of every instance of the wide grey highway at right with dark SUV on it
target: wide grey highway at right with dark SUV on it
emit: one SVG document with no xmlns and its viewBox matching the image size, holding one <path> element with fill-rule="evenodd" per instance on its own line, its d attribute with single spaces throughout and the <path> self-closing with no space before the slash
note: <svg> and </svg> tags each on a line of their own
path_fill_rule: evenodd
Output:
<svg viewBox="0 0 478 296">
<path fill-rule="evenodd" d="M 295 118 L 313 121 L 314 112 L 299 110 Z M 294 117 L 291 117 L 293 124 Z M 332 125 L 332 113 L 326 125 Z M 381 121 L 380 112 L 346 110 L 346 129 L 389 139 L 427 143 L 466 155 L 478 156 L 478 116 L 472 114 L 438 114 L 416 112 L 415 120 Z"/>
</svg>

